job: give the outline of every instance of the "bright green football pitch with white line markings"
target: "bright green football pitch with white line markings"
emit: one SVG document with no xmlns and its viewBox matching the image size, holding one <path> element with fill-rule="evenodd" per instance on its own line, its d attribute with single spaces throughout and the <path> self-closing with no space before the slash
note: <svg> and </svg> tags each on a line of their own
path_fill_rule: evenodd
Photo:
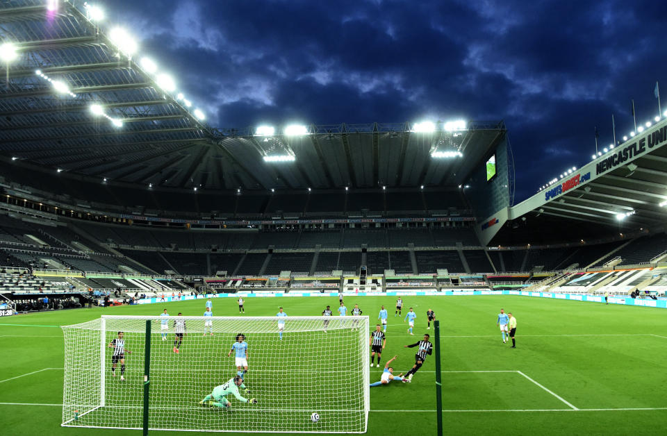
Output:
<svg viewBox="0 0 667 436">
<path fill-rule="evenodd" d="M 394 317 L 393 297 L 346 297 L 348 308 L 354 303 L 370 316 L 371 326 L 381 304 L 390 311 L 383 358 L 397 354 L 393 365 L 397 371 L 407 371 L 413 364 L 413 349 L 404 349 L 405 344 L 424 333 L 432 337 L 425 314 L 428 308 L 436 312 L 442 335 L 446 434 L 655 435 L 667 428 L 664 310 L 523 296 L 405 296 L 404 307 L 412 306 L 418 314 L 415 336 L 410 336 L 402 318 Z M 279 304 L 289 315 L 319 315 L 324 305 L 335 308 L 338 299 L 248 298 L 246 316 L 273 316 Z M 60 427 L 63 333 L 59 326 L 103 314 L 159 315 L 163 307 L 170 313 L 199 316 L 204 300 L 0 319 L 0 433 L 140 434 Z M 513 312 L 518 321 L 516 349 L 502 343 L 495 325 L 500 308 Z M 231 298 L 214 299 L 213 309 L 217 316 L 238 315 Z M 411 384 L 394 382 L 370 389 L 368 435 L 436 433 L 434 363 L 430 356 Z M 381 369 L 371 369 L 371 382 L 379 380 Z M 331 383 L 344 385 L 345 379 Z"/>
</svg>

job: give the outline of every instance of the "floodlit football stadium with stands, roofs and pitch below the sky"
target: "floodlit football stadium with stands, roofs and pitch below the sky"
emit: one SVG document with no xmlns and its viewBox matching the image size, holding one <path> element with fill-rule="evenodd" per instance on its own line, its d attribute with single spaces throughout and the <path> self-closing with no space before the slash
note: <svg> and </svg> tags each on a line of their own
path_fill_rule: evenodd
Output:
<svg viewBox="0 0 667 436">
<path fill-rule="evenodd" d="M 3 434 L 664 433 L 667 112 L 515 201 L 501 119 L 218 128 L 102 15 L 0 2 Z"/>
</svg>

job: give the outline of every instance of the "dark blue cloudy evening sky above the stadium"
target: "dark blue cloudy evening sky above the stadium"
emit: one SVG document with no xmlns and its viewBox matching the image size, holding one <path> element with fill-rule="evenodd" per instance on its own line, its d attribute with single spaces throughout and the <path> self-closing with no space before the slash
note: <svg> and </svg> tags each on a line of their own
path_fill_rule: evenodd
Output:
<svg viewBox="0 0 667 436">
<path fill-rule="evenodd" d="M 115 0 L 212 126 L 504 119 L 516 201 L 667 109 L 667 2 Z"/>
</svg>

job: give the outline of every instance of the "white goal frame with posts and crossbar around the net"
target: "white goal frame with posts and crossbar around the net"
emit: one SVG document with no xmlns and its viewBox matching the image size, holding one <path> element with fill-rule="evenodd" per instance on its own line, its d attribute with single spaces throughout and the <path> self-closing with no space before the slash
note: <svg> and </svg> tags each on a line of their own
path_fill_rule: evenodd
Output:
<svg viewBox="0 0 667 436">
<path fill-rule="evenodd" d="M 169 317 L 162 317 L 162 316 L 142 316 L 142 315 L 101 315 L 99 318 L 99 360 L 97 362 L 97 367 L 100 370 L 100 378 L 99 378 L 99 404 L 94 405 L 92 408 L 83 411 L 82 413 L 78 414 L 78 417 L 83 417 L 85 414 L 88 414 L 90 412 L 93 412 L 94 410 L 97 410 L 99 408 L 103 408 L 106 405 L 106 377 L 105 377 L 105 372 L 106 372 L 106 360 L 108 356 L 106 355 L 106 349 L 107 349 L 107 337 L 106 337 L 106 326 L 107 320 L 110 319 L 128 319 L 128 320 L 134 320 L 134 321 L 164 321 L 165 319 L 167 321 L 173 321 L 174 319 L 183 319 L 185 321 L 201 321 L 202 323 L 204 321 L 249 321 L 249 320 L 258 320 L 258 321 L 324 321 L 327 319 L 327 317 L 322 317 L 322 316 L 308 316 L 308 317 L 301 317 L 301 316 L 288 316 L 288 317 L 202 317 L 202 316 L 169 316 Z M 368 369 L 368 364 L 370 361 L 369 358 L 369 344 L 368 344 L 368 332 L 370 331 L 370 321 L 368 316 L 358 316 L 358 317 L 353 317 L 353 316 L 345 316 L 345 317 L 330 317 L 330 321 L 349 321 L 350 324 L 353 322 L 355 325 L 358 323 L 358 328 L 361 331 L 366 332 L 365 335 L 359 335 L 359 353 L 361 353 L 361 368 L 358 370 L 361 371 L 362 374 L 362 383 L 363 383 L 363 429 L 360 431 L 327 431 L 326 433 L 366 433 L 368 431 L 368 414 L 370 412 L 370 371 Z M 91 320 L 91 321 L 96 321 L 96 320 Z M 90 321 L 89 321 L 90 322 Z M 86 324 L 86 323 L 83 323 Z M 69 326 L 63 326 L 63 328 L 76 328 L 76 324 L 69 325 Z M 150 327 L 146 327 L 147 331 L 150 332 Z M 320 328 L 316 328 L 313 330 L 320 330 Z M 308 331 L 308 330 L 303 330 L 303 331 Z M 249 333 L 252 333 L 252 329 L 248 330 Z M 139 331 L 135 333 L 140 333 Z M 264 332 L 255 332 L 255 333 L 264 333 Z M 150 333 L 149 333 L 150 334 Z M 159 334 L 159 332 L 154 331 L 154 334 Z M 147 352 L 149 351 L 149 344 L 150 340 L 147 340 Z M 65 343 L 65 348 L 67 347 L 67 343 Z M 65 350 L 65 358 L 67 358 L 67 350 Z M 147 367 L 147 370 L 149 367 Z M 67 367 L 65 367 L 65 371 L 67 371 Z M 67 375 L 65 376 L 65 380 L 63 383 L 67 383 Z M 145 389 L 148 389 L 148 387 L 145 387 Z M 149 394 L 147 393 L 145 396 L 145 405 L 147 405 L 149 400 Z M 65 414 L 65 406 L 67 403 L 67 391 L 66 389 L 63 389 L 63 415 Z M 239 432 L 238 429 L 233 429 L 233 430 L 200 430 L 200 429 L 188 429 L 188 428 L 142 428 L 142 427 L 133 427 L 133 426 L 128 426 L 128 427 L 110 427 L 110 426 L 74 426 L 70 423 L 74 421 L 75 419 L 78 418 L 70 418 L 65 420 L 65 417 L 63 416 L 63 421 L 60 426 L 63 427 L 87 427 L 87 428 L 113 428 L 116 430 L 121 430 L 121 429 L 133 429 L 133 430 L 144 430 L 147 432 L 147 430 L 156 430 L 156 431 L 206 431 L 206 432 L 213 432 L 213 433 L 231 433 L 231 432 Z M 143 418 L 144 422 L 147 422 L 148 416 L 145 415 Z M 321 431 L 313 431 L 313 430 L 243 430 L 242 433 L 322 433 Z"/>
</svg>

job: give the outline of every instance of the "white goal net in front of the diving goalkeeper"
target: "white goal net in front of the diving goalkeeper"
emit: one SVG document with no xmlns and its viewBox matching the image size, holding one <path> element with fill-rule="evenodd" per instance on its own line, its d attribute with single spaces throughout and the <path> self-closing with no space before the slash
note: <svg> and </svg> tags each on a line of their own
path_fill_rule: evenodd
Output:
<svg viewBox="0 0 667 436">
<path fill-rule="evenodd" d="M 174 344 L 179 320 L 185 321 L 186 335 Z M 204 333 L 206 320 L 213 325 Z M 365 433 L 370 407 L 368 317 L 103 315 L 63 326 L 63 426 L 142 428 L 147 321 L 150 429 Z M 124 365 L 110 346 L 119 332 Z M 250 389 L 246 393 L 240 388 L 239 394 L 258 403 L 230 394 L 230 408 L 199 405 L 237 375 L 236 352 L 227 354 L 239 333 L 247 343 L 244 384 Z M 311 420 L 313 412 L 320 416 L 317 422 Z"/>
</svg>

